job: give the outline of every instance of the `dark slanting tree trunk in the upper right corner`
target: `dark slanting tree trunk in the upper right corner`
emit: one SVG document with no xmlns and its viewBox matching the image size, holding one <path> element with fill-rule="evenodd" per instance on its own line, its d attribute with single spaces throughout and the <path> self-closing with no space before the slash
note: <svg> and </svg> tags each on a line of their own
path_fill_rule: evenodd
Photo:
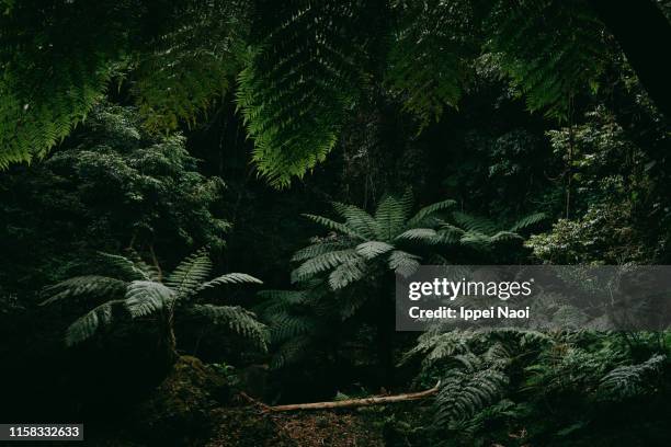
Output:
<svg viewBox="0 0 671 447">
<path fill-rule="evenodd" d="M 589 0 L 659 111 L 671 119 L 671 24 L 653 0 Z"/>
</svg>

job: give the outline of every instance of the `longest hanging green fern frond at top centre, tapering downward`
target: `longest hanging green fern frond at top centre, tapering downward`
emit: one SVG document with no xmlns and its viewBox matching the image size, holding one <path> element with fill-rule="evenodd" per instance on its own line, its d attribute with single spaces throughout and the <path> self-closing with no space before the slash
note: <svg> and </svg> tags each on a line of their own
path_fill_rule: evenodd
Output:
<svg viewBox="0 0 671 447">
<path fill-rule="evenodd" d="M 357 92 L 369 31 L 356 1 L 260 2 L 259 37 L 238 77 L 237 102 L 260 173 L 276 186 L 333 148 Z"/>
</svg>

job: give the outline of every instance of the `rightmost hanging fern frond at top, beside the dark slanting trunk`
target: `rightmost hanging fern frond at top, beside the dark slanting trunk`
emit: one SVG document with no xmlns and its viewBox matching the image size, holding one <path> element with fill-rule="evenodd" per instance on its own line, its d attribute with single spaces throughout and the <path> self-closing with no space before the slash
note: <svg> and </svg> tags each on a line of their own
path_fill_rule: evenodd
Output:
<svg viewBox="0 0 671 447">
<path fill-rule="evenodd" d="M 588 2 L 500 0 L 486 28 L 489 49 L 532 111 L 567 118 L 572 98 L 593 89 L 603 70 L 603 25 Z"/>
</svg>

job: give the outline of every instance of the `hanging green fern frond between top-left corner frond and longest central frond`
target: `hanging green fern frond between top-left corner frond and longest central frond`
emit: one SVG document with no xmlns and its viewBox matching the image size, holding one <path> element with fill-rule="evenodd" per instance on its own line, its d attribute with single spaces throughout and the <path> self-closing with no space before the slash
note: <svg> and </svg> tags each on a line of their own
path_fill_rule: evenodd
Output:
<svg viewBox="0 0 671 447">
<path fill-rule="evenodd" d="M 229 89 L 238 69 L 246 11 L 240 2 L 208 0 L 174 5 L 170 27 L 137 55 L 133 89 L 150 130 L 193 123 Z"/>
</svg>

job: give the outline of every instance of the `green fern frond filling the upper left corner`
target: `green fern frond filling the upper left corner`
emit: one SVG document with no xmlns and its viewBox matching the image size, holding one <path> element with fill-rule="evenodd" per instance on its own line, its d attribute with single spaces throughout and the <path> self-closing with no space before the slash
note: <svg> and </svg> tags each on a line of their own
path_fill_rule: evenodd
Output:
<svg viewBox="0 0 671 447">
<path fill-rule="evenodd" d="M 102 99 L 123 65 L 121 24 L 132 25 L 136 11 L 109 1 L 2 9 L 0 168 L 7 168 L 43 158 Z"/>
</svg>

